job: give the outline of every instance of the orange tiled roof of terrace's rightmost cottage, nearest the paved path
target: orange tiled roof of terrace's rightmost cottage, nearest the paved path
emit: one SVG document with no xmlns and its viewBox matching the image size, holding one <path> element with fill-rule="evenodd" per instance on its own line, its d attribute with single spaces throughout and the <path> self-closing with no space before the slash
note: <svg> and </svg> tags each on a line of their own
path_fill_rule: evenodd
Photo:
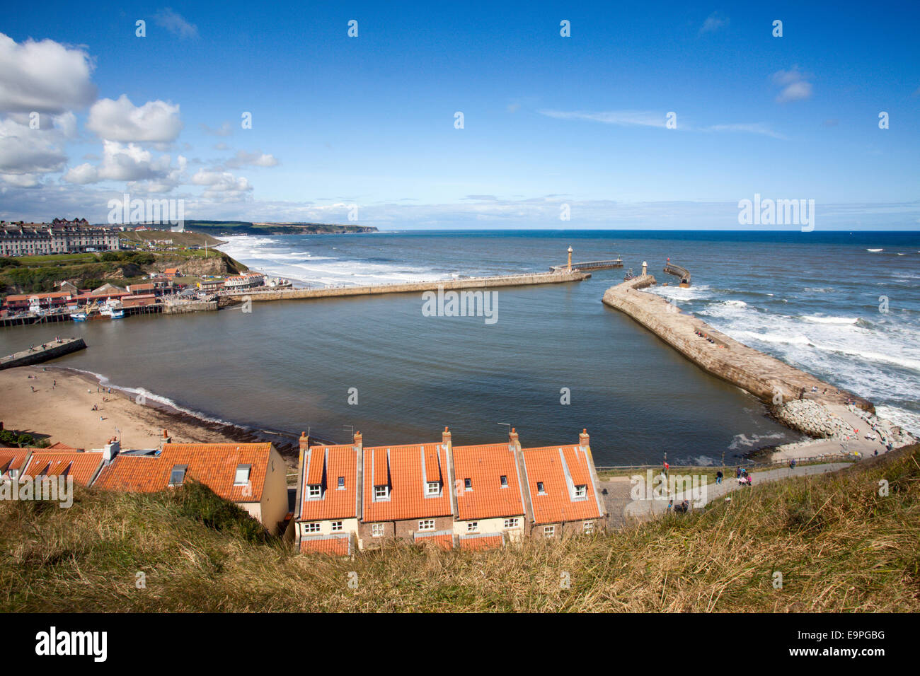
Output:
<svg viewBox="0 0 920 676">
<path fill-rule="evenodd" d="M 564 459 L 564 463 L 563 463 Z M 598 519 L 601 512 L 594 496 L 594 486 L 588 470 L 587 453 L 581 446 L 544 446 L 523 449 L 524 468 L 527 472 L 527 486 L 534 508 L 534 522 L 556 523 Z M 564 466 L 568 467 L 572 484 L 581 482 L 586 487 L 586 497 L 572 499 L 566 482 Z M 587 480 L 585 477 L 588 477 Z M 537 482 L 543 482 L 546 495 L 537 492 Z"/>
</svg>

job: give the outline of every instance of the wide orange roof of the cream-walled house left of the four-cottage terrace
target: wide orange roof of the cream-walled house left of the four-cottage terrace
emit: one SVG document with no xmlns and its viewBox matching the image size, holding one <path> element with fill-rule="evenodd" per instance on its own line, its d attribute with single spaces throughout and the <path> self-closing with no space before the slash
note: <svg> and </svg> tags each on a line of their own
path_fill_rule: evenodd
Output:
<svg viewBox="0 0 920 676">
<path fill-rule="evenodd" d="M 270 443 L 167 443 L 159 455 L 117 455 L 94 486 L 152 493 L 169 487 L 176 465 L 187 465 L 186 480 L 210 487 L 233 502 L 259 502 L 268 472 Z M 251 465 L 249 483 L 236 486 L 236 467 Z"/>
</svg>

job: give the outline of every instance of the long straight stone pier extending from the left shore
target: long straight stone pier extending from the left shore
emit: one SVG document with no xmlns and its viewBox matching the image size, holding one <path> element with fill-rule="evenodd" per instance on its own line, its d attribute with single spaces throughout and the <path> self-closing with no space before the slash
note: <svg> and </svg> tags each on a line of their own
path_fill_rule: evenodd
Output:
<svg viewBox="0 0 920 676">
<path fill-rule="evenodd" d="M 370 286 L 336 286 L 320 289 L 279 289 L 274 291 L 236 292 L 222 294 L 222 298 L 251 301 L 289 301 L 311 298 L 337 298 L 343 296 L 377 295 L 381 293 L 412 293 L 457 289 L 494 289 L 506 286 L 531 286 L 535 284 L 561 284 L 569 281 L 583 281 L 591 277 L 588 272 L 559 270 L 554 272 L 532 272 L 519 275 L 497 275 L 493 277 L 470 277 L 462 280 L 413 281 L 401 284 L 374 284 Z"/>
</svg>

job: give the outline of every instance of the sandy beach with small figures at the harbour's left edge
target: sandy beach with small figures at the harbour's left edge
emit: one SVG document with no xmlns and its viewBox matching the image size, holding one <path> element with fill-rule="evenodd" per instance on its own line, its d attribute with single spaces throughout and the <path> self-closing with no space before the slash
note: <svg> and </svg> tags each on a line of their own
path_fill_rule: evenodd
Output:
<svg viewBox="0 0 920 676">
<path fill-rule="evenodd" d="M 122 448 L 155 448 L 163 430 L 176 442 L 260 441 L 247 430 L 138 404 L 115 389 L 109 393 L 92 376 L 40 366 L 0 372 L 0 421 L 6 430 L 82 449 L 101 448 L 115 436 Z"/>
</svg>

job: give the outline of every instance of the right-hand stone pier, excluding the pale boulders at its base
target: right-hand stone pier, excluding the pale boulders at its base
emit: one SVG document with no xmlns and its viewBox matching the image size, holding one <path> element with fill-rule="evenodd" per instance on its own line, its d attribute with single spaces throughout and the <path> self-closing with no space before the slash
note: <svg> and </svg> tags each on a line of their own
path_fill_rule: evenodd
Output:
<svg viewBox="0 0 920 676">
<path fill-rule="evenodd" d="M 868 400 L 729 338 L 661 296 L 639 291 L 654 283 L 651 275 L 641 275 L 613 286 L 604 293 L 604 304 L 629 315 L 704 371 L 747 390 L 775 412 L 776 407 L 799 397 L 823 405 L 853 401 L 857 407 L 874 412 Z"/>
</svg>

